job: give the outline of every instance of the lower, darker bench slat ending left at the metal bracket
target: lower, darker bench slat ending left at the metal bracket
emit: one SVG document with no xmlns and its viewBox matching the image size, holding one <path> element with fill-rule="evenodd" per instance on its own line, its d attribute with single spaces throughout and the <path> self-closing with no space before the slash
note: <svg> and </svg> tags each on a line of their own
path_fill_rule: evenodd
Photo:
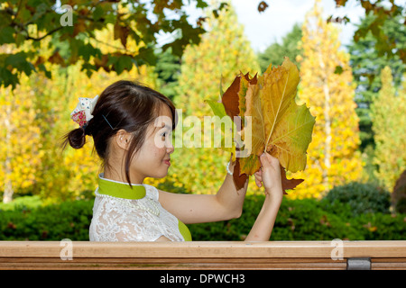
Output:
<svg viewBox="0 0 406 288">
<path fill-rule="evenodd" d="M 6 261 L 5 261 L 6 260 Z M 345 269 L 346 261 L 326 258 L 0 258 L 0 269 Z"/>
</svg>

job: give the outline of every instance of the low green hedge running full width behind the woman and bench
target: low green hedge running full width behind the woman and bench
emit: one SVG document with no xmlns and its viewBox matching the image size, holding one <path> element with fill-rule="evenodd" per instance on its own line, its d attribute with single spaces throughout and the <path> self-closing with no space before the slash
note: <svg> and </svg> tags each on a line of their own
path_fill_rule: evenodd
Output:
<svg viewBox="0 0 406 288">
<path fill-rule="evenodd" d="M 239 219 L 188 225 L 194 240 L 243 240 L 254 224 L 263 195 L 246 197 Z M 0 240 L 88 240 L 93 200 L 40 207 L 0 206 Z M 334 208 L 334 209 L 333 209 Z M 347 203 L 284 199 L 272 240 L 406 239 L 406 214 L 368 212 L 354 215 Z"/>
</svg>

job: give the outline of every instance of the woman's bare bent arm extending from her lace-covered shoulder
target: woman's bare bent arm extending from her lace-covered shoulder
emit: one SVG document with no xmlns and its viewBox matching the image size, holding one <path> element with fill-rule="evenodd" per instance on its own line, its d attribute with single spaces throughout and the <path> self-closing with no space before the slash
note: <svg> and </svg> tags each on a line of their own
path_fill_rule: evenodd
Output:
<svg viewBox="0 0 406 288">
<path fill-rule="evenodd" d="M 233 171 L 234 165 L 230 165 Z M 226 170 L 226 167 L 225 167 Z M 185 224 L 215 222 L 238 218 L 243 211 L 245 185 L 236 190 L 233 176 L 226 174 L 224 183 L 216 194 L 178 194 L 159 191 L 163 208 Z"/>
</svg>

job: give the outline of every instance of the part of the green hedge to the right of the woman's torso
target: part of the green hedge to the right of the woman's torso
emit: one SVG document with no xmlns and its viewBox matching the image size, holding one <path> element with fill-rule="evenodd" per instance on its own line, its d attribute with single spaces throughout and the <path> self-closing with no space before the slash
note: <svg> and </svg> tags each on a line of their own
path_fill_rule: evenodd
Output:
<svg viewBox="0 0 406 288">
<path fill-rule="evenodd" d="M 254 224 L 263 196 L 248 196 L 239 219 L 189 225 L 195 240 L 243 240 Z M 406 214 L 366 213 L 351 215 L 323 209 L 326 203 L 314 199 L 284 199 L 272 231 L 272 240 L 395 240 L 406 239 Z M 337 208 L 337 206 L 336 206 Z"/>
</svg>

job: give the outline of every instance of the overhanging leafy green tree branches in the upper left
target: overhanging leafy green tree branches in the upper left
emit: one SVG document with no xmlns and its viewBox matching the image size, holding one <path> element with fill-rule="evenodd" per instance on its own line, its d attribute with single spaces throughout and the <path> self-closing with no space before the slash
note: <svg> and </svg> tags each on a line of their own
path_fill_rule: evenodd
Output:
<svg viewBox="0 0 406 288">
<path fill-rule="evenodd" d="M 194 2 L 197 8 L 207 7 L 202 0 Z M 99 67 L 121 74 L 134 65 L 154 65 L 157 35 L 177 33 L 162 49 L 171 48 L 181 56 L 189 43 L 198 43 L 204 32 L 198 23 L 189 23 L 185 4 L 181 0 L 166 1 L 3 1 L 0 4 L 0 45 L 15 44 L 26 48 L 18 52 L 0 54 L 0 85 L 20 83 L 23 74 L 44 72 L 51 77 L 46 63 L 67 67 L 81 62 L 87 76 Z M 168 16 L 168 11 L 177 17 Z M 103 53 L 95 44 L 97 31 L 114 25 L 114 35 L 105 43 L 119 40 L 114 49 Z M 42 46 L 48 40 L 51 55 L 44 55 Z M 129 40 L 140 44 L 136 51 L 127 46 Z M 69 55 L 60 55 L 60 45 L 67 46 Z"/>
</svg>

